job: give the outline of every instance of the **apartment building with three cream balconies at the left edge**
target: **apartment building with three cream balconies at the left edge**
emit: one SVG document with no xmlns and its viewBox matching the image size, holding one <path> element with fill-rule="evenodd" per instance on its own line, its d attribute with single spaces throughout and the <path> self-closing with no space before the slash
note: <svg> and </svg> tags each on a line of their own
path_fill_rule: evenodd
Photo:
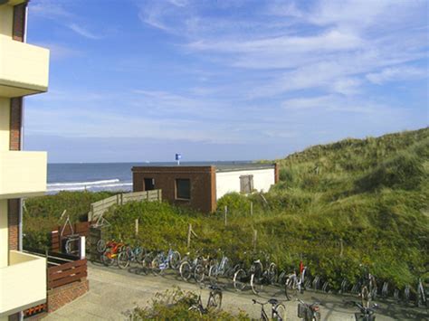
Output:
<svg viewBox="0 0 429 321">
<path fill-rule="evenodd" d="M 46 260 L 22 251 L 22 200 L 46 190 L 45 152 L 23 151 L 24 97 L 47 90 L 49 51 L 25 43 L 27 3 L 0 0 L 0 320 L 46 301 Z"/>
</svg>

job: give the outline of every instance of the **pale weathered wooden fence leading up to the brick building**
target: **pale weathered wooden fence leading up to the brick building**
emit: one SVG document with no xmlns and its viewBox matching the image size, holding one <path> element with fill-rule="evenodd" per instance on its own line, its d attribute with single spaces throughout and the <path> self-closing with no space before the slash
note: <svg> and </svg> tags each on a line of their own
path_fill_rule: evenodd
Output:
<svg viewBox="0 0 429 321">
<path fill-rule="evenodd" d="M 153 190 L 145 192 L 117 194 L 110 196 L 96 203 L 91 203 L 91 211 L 88 213 L 88 222 L 97 221 L 104 212 L 108 211 L 112 205 L 122 205 L 132 201 L 162 201 L 162 191 Z"/>
</svg>

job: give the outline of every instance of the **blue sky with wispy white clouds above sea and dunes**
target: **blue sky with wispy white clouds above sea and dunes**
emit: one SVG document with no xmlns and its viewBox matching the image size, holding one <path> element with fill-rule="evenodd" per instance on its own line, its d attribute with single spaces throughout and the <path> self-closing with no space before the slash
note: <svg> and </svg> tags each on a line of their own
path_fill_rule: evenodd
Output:
<svg viewBox="0 0 429 321">
<path fill-rule="evenodd" d="M 281 158 L 429 124 L 425 0 L 33 0 L 49 162 Z"/>
</svg>

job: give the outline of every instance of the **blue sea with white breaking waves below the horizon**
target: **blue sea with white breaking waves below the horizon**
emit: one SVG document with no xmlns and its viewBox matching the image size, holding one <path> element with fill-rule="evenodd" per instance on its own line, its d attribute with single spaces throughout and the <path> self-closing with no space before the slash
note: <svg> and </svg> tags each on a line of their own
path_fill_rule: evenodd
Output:
<svg viewBox="0 0 429 321">
<path fill-rule="evenodd" d="M 180 165 L 230 165 L 248 164 L 236 162 L 181 162 Z M 174 162 L 146 163 L 74 163 L 48 164 L 48 194 L 61 191 L 124 191 L 132 190 L 133 166 L 177 165 Z"/>
</svg>

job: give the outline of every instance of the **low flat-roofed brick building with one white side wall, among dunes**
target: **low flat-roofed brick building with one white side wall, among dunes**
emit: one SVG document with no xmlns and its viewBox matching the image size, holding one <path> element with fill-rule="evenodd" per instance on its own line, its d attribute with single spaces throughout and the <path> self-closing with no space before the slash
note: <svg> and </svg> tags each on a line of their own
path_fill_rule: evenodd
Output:
<svg viewBox="0 0 429 321">
<path fill-rule="evenodd" d="M 279 180 L 277 165 L 177 165 L 132 168 L 133 191 L 161 189 L 163 198 L 201 212 L 215 212 L 224 194 L 267 192 Z"/>
</svg>

